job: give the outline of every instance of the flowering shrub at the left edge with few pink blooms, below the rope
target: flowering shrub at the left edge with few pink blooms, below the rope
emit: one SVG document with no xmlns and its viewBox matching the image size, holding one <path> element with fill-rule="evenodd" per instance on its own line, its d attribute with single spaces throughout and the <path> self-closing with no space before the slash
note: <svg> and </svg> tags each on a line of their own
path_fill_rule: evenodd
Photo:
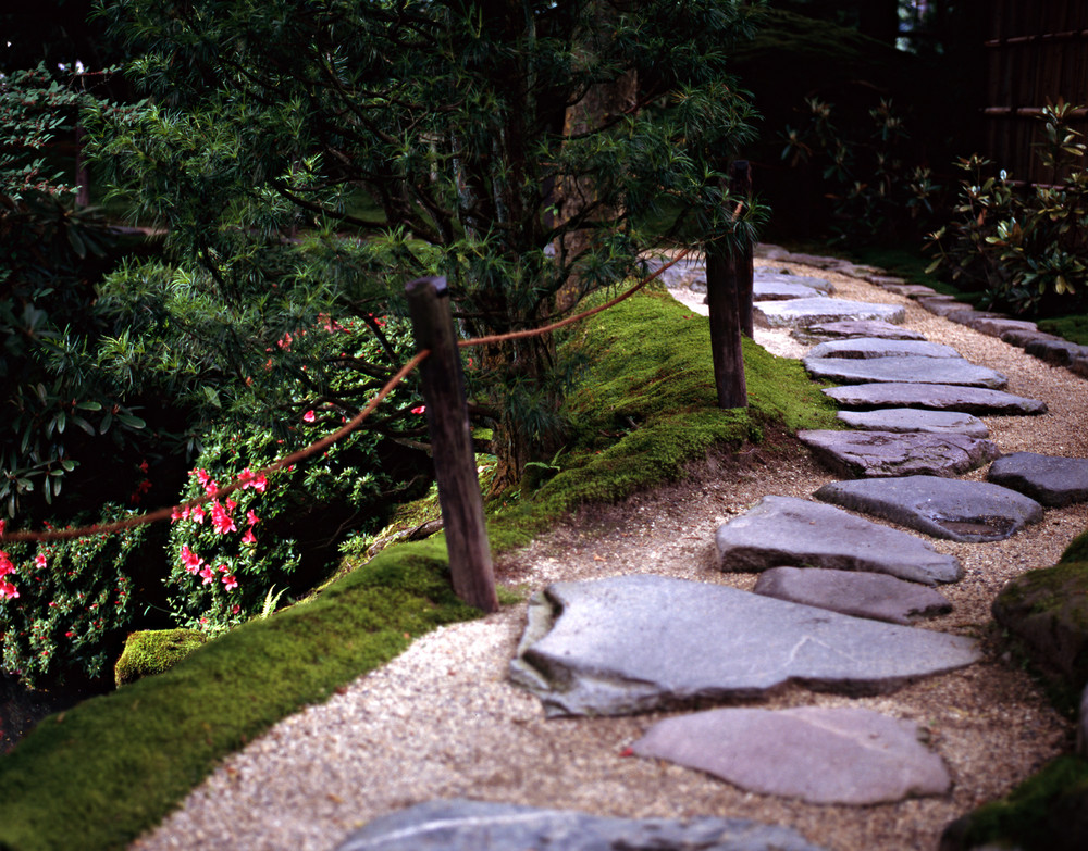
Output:
<svg viewBox="0 0 1088 851">
<path fill-rule="evenodd" d="M 100 522 L 128 514 L 108 505 Z M 3 545 L 3 669 L 32 687 L 74 672 L 94 678 L 109 669 L 113 660 L 108 658 L 108 639 L 127 629 L 135 614 L 125 565 L 147 531 L 137 527 L 71 541 Z"/>
</svg>

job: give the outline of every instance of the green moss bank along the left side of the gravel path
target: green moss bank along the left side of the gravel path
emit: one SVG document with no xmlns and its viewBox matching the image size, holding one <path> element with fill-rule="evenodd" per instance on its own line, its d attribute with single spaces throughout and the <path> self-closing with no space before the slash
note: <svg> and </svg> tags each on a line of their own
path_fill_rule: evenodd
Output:
<svg viewBox="0 0 1088 851">
<path fill-rule="evenodd" d="M 758 441 L 769 425 L 832 423 L 833 405 L 799 363 L 750 341 L 750 406 L 718 410 L 707 323 L 665 292 L 598 314 L 564 345 L 590 358 L 567 400 L 571 449 L 532 497 L 490 506 L 496 551 L 528 542 L 585 502 L 679 478 L 714 447 Z M 281 718 L 390 661 L 416 636 L 478 614 L 450 591 L 441 536 L 397 543 L 361 566 L 346 561 L 310 600 L 41 722 L 0 756 L 0 849 L 124 848 Z"/>
</svg>

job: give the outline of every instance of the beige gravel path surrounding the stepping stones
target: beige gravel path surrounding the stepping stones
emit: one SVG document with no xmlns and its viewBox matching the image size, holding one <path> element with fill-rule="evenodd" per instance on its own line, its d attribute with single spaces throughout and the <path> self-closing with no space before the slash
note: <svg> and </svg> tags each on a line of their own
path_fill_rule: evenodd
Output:
<svg viewBox="0 0 1088 851">
<path fill-rule="evenodd" d="M 1043 416 L 986 417 L 1002 452 L 1088 458 L 1085 379 L 864 281 L 790 268 L 830 278 L 841 298 L 905 304 L 907 327 L 1004 373 L 1010 392 L 1044 400 L 1050 412 Z M 703 309 L 702 296 L 683 298 L 693 310 Z M 761 331 L 756 339 L 788 356 L 803 351 L 782 331 Z M 556 580 L 631 573 L 751 588 L 754 576 L 714 570 L 717 526 L 765 495 L 808 497 L 831 480 L 800 445 L 710 458 L 679 485 L 584 511 L 504 558 L 498 575 L 527 591 Z M 524 623 L 521 604 L 424 636 L 326 703 L 284 719 L 224 761 L 181 810 L 132 848 L 327 851 L 378 815 L 449 797 L 634 817 L 739 816 L 793 827 L 837 851 L 936 848 L 950 821 L 1003 794 L 1071 747 L 1070 723 L 996 641 L 989 606 L 1009 578 L 1053 564 L 1086 527 L 1088 505 L 1080 504 L 1048 510 L 1042 523 L 1006 541 L 930 540 L 959 556 L 966 576 L 941 588 L 953 613 L 926 625 L 984 639 L 986 658 L 979 664 L 878 698 L 791 687 L 761 703 L 862 705 L 919 723 L 952 773 L 954 788 L 947 797 L 820 806 L 746 793 L 664 762 L 623 758 L 623 749 L 665 714 L 545 722 L 535 698 L 506 680 Z"/>
</svg>

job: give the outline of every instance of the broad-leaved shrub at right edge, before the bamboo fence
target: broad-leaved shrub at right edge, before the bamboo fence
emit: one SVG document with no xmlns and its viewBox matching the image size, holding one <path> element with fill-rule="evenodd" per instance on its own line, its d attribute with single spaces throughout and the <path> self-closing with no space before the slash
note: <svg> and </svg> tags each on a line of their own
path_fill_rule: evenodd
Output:
<svg viewBox="0 0 1088 851">
<path fill-rule="evenodd" d="M 1088 310 L 1088 172 L 1080 133 L 1068 126 L 1077 108 L 1048 105 L 1039 159 L 1047 186 L 1024 187 L 982 157 L 961 160 L 964 173 L 952 221 L 930 234 L 940 270 L 984 303 L 1031 315 Z"/>
</svg>

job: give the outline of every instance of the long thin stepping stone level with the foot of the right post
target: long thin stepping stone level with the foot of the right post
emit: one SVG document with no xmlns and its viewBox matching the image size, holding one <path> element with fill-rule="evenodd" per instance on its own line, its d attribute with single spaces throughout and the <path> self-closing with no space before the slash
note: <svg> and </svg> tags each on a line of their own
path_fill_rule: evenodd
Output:
<svg viewBox="0 0 1088 851">
<path fill-rule="evenodd" d="M 1047 413 L 1046 402 L 1038 399 L 1026 399 L 984 387 L 894 381 L 830 387 L 823 392 L 843 408 L 926 408 L 931 411 L 1001 416 Z"/>
</svg>

